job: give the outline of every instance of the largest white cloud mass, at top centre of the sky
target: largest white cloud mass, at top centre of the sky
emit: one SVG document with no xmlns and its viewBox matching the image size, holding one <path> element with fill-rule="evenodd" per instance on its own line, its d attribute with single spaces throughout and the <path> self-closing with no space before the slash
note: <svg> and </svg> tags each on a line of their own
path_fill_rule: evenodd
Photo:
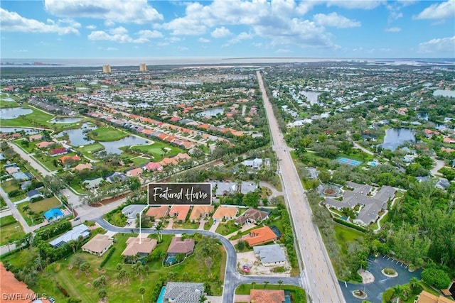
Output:
<svg viewBox="0 0 455 303">
<path fill-rule="evenodd" d="M 300 18 L 312 6 L 323 3 L 311 1 L 306 5 L 299 2 L 298 6 L 294 1 L 284 0 L 185 3 L 184 16 L 155 27 L 171 31 L 171 35 L 203 35 L 211 31 L 215 38 L 222 36 L 219 28 L 228 29 L 233 25 L 259 38 L 267 38 L 270 45 L 333 48 L 332 36 L 326 33 L 323 26 Z M 368 2 L 362 6 L 370 7 L 372 4 Z"/>
</svg>

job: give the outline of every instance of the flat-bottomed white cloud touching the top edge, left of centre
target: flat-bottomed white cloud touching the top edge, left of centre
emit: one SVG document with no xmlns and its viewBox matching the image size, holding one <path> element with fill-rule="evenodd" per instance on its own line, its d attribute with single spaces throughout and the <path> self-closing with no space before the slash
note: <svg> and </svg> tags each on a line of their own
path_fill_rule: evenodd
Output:
<svg viewBox="0 0 455 303">
<path fill-rule="evenodd" d="M 46 11 L 55 16 L 138 24 L 163 20 L 163 16 L 146 0 L 45 0 L 44 6 Z"/>
</svg>

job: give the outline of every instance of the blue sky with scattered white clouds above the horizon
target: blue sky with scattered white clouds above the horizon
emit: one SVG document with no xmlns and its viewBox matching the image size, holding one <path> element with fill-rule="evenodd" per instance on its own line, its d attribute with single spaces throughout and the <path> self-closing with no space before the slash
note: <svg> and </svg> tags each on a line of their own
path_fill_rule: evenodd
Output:
<svg viewBox="0 0 455 303">
<path fill-rule="evenodd" d="M 0 2 L 1 57 L 455 57 L 455 0 Z"/>
</svg>

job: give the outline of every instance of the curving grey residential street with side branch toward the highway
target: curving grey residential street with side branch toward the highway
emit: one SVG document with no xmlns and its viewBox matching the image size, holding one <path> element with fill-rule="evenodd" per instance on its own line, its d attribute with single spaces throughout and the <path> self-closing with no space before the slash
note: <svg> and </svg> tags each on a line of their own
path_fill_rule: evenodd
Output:
<svg viewBox="0 0 455 303">
<path fill-rule="evenodd" d="M 122 228 L 117 226 L 112 226 L 107 221 L 102 218 L 95 219 L 97 224 L 100 224 L 102 228 L 105 228 L 107 231 L 114 231 L 117 233 L 139 233 L 139 228 Z M 141 228 L 142 233 L 156 233 L 156 230 L 152 228 Z M 218 238 L 225 247 L 227 253 L 226 259 L 226 270 L 225 270 L 225 282 L 223 287 L 223 302 L 234 302 L 235 288 L 241 284 L 251 284 L 251 282 L 256 282 L 258 284 L 264 283 L 265 281 L 270 284 L 278 284 L 279 280 L 283 281 L 283 285 L 297 285 L 300 286 L 300 277 L 264 277 L 264 276 L 252 276 L 252 275 L 240 275 L 237 272 L 237 253 L 235 253 L 235 248 L 232 246 L 232 243 L 225 237 L 221 236 L 218 233 L 213 233 L 211 231 L 201 231 L 197 229 L 163 229 L 161 234 L 165 235 L 176 235 L 186 233 L 191 235 L 193 233 L 200 233 L 203 236 L 213 236 Z"/>
</svg>

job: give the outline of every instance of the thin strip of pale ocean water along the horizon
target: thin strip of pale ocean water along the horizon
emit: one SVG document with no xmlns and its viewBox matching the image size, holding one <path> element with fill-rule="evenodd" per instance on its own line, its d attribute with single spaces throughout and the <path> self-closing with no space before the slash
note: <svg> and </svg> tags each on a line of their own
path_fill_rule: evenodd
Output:
<svg viewBox="0 0 455 303">
<path fill-rule="evenodd" d="M 105 57 L 105 58 L 1 58 L 2 67 L 95 67 L 102 65 L 236 65 L 305 62 L 363 62 L 379 65 L 455 65 L 455 58 L 366 57 Z"/>
</svg>

